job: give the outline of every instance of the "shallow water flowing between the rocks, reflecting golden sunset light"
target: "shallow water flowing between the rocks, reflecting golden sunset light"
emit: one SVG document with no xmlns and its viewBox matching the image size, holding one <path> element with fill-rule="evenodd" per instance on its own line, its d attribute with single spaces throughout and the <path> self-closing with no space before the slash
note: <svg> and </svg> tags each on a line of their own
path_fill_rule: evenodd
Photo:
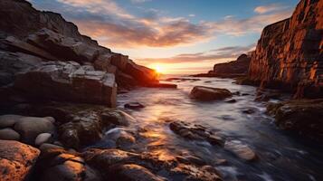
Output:
<svg viewBox="0 0 323 181">
<path fill-rule="evenodd" d="M 137 119 L 130 129 L 147 129 L 144 138 L 132 149 L 154 153 L 161 159 L 188 153 L 213 165 L 219 159 L 226 159 L 226 164 L 216 166 L 224 180 L 323 180 L 323 149 L 278 129 L 265 114 L 265 103 L 253 101 L 256 88 L 232 81 L 218 78 L 172 81 L 178 89 L 140 88 L 120 94 L 121 109 L 131 101 L 146 106 L 141 110 L 126 110 Z M 236 103 L 190 100 L 189 92 L 196 85 L 240 91 L 244 95 L 233 96 Z M 243 110 L 254 110 L 254 113 L 246 114 Z M 181 138 L 169 129 L 168 122 L 172 120 L 200 124 L 219 131 L 227 139 L 239 140 L 252 148 L 258 159 L 246 162 L 208 142 Z"/>
</svg>

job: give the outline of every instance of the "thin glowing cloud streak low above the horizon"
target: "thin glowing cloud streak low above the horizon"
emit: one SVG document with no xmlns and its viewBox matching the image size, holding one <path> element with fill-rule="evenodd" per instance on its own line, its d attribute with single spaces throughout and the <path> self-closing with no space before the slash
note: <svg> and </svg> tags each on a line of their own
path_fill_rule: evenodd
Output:
<svg viewBox="0 0 323 181">
<path fill-rule="evenodd" d="M 140 63 L 149 64 L 152 62 L 158 63 L 192 63 L 192 62 L 229 62 L 236 60 L 242 53 L 251 52 L 255 49 L 256 44 L 247 46 L 228 46 L 219 49 L 210 50 L 208 52 L 182 53 L 174 57 L 168 58 L 145 58 L 138 60 Z"/>
</svg>

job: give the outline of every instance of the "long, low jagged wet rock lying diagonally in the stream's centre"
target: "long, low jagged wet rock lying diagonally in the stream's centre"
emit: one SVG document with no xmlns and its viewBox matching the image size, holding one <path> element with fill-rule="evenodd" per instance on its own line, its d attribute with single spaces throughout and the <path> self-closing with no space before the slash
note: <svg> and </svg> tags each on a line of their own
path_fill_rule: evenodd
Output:
<svg viewBox="0 0 323 181">
<path fill-rule="evenodd" d="M 183 138 L 204 140 L 208 141 L 212 145 L 220 146 L 224 143 L 223 138 L 201 125 L 192 125 L 184 121 L 174 121 L 169 124 L 169 128 Z"/>
</svg>

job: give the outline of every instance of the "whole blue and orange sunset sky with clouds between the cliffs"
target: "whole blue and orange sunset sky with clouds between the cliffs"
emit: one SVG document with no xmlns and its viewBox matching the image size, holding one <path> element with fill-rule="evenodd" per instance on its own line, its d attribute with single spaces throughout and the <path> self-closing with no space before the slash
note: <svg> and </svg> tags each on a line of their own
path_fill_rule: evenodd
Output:
<svg viewBox="0 0 323 181">
<path fill-rule="evenodd" d="M 212 70 L 255 49 L 261 30 L 298 0 L 29 0 L 82 34 L 166 74 Z"/>
</svg>

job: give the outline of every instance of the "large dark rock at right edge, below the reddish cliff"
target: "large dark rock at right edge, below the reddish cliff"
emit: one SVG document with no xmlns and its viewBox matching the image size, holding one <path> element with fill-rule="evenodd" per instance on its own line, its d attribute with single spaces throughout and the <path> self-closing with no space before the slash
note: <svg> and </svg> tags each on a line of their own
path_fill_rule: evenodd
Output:
<svg viewBox="0 0 323 181">
<path fill-rule="evenodd" d="M 323 100 L 288 100 L 271 103 L 267 111 L 280 129 L 321 141 L 323 138 Z"/>
</svg>

